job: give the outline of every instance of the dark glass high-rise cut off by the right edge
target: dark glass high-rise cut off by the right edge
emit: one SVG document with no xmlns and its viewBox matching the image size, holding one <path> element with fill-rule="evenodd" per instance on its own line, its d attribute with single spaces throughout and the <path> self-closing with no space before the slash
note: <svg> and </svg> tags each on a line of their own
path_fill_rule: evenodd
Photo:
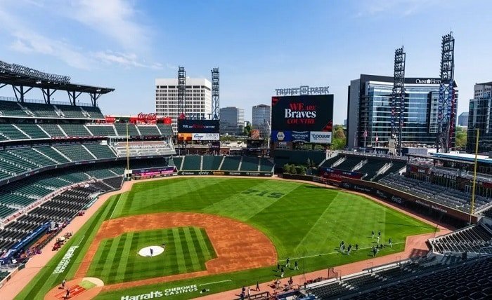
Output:
<svg viewBox="0 0 492 300">
<path fill-rule="evenodd" d="M 479 152 L 492 151 L 492 81 L 477 83 L 468 111 L 467 152 L 474 153 L 479 129 Z"/>
</svg>

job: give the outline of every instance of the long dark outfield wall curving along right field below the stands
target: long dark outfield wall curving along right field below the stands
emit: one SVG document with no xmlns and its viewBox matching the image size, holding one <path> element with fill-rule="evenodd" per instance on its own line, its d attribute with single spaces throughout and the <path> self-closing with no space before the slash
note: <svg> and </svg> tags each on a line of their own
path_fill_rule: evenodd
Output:
<svg viewBox="0 0 492 300">
<path fill-rule="evenodd" d="M 364 180 L 341 178 L 341 182 L 325 179 L 322 177 L 309 176 L 309 175 L 283 175 L 285 179 L 297 179 L 310 182 L 320 182 L 323 184 L 330 184 L 331 186 L 338 186 L 342 189 L 348 189 L 351 191 L 357 191 L 361 193 L 374 196 L 385 202 L 406 207 L 413 212 L 424 214 L 436 221 L 443 221 L 453 226 L 463 226 L 470 221 L 470 214 L 455 210 L 451 207 L 435 203 L 432 200 L 420 198 L 397 189 L 392 189 L 389 186 L 384 186 L 376 182 L 367 182 Z M 472 222 L 477 222 L 477 217 L 472 216 Z"/>
</svg>

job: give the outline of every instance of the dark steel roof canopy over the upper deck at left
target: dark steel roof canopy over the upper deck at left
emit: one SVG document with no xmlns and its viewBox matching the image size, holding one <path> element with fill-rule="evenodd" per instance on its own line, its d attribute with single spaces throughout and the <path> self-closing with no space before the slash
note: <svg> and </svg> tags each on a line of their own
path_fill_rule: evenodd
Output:
<svg viewBox="0 0 492 300">
<path fill-rule="evenodd" d="M 75 100 L 82 93 L 91 96 L 93 106 L 101 95 L 114 91 L 114 88 L 101 88 L 86 86 L 70 82 L 70 76 L 48 74 L 20 64 L 8 64 L 0 60 L 0 88 L 12 86 L 15 97 L 19 102 L 24 102 L 25 94 L 32 88 L 39 88 L 43 92 L 44 101 L 50 103 L 51 95 L 57 90 L 66 91 L 70 104 L 75 105 Z"/>
</svg>

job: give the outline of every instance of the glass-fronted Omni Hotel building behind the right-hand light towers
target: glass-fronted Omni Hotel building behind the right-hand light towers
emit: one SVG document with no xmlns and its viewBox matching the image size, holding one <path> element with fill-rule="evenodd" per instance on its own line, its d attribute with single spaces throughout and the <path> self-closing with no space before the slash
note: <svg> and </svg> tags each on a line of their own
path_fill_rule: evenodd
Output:
<svg viewBox="0 0 492 300">
<path fill-rule="evenodd" d="M 438 99 L 441 79 L 417 77 L 405 79 L 405 111 L 402 146 L 436 144 Z M 458 90 L 455 86 L 455 113 Z M 393 77 L 361 74 L 350 82 L 347 107 L 347 146 L 388 146 L 391 137 L 391 90 Z M 447 95 L 447 93 L 446 93 Z M 448 111 L 444 108 L 444 111 Z M 396 114 L 395 118 L 398 118 Z M 395 123 L 399 123 L 398 119 Z M 443 128 L 446 128 L 443 122 Z M 454 137 L 451 145 L 454 147 Z"/>
</svg>

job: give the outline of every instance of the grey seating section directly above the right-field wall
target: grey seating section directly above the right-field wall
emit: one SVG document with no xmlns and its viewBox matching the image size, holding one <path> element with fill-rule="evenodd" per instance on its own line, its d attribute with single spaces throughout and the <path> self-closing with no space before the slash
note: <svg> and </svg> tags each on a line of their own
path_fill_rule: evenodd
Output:
<svg viewBox="0 0 492 300">
<path fill-rule="evenodd" d="M 464 212 L 470 211 L 470 193 L 465 193 L 455 189 L 447 189 L 444 186 L 422 182 L 417 179 L 403 177 L 396 174 L 390 174 L 379 180 L 381 184 L 391 186 L 394 189 L 411 193 L 415 196 L 427 198 L 436 203 L 441 203 L 448 207 L 453 207 Z M 477 196 L 475 200 L 475 209 L 486 205 L 492 201 L 491 198 Z"/>
</svg>

